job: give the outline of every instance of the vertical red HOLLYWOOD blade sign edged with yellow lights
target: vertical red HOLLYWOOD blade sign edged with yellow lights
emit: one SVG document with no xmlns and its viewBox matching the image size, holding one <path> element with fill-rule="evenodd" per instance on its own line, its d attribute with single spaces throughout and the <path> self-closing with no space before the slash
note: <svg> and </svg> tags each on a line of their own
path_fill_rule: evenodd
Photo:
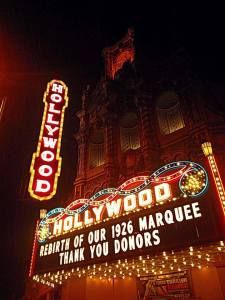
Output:
<svg viewBox="0 0 225 300">
<path fill-rule="evenodd" d="M 49 200 L 56 193 L 62 163 L 60 147 L 64 113 L 68 105 L 67 93 L 64 82 L 52 80 L 44 94 L 44 113 L 37 152 L 32 157 L 29 182 L 31 197 L 40 201 Z"/>
</svg>

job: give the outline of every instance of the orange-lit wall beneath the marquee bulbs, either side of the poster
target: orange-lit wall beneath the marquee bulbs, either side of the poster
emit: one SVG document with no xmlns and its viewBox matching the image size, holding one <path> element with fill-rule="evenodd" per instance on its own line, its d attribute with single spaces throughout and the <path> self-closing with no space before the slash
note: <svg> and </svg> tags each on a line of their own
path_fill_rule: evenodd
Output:
<svg viewBox="0 0 225 300">
<path fill-rule="evenodd" d="M 225 299 L 225 267 L 191 270 L 193 299 Z M 62 300 L 139 300 L 136 278 L 68 280 Z M 142 299 L 141 299 L 142 300 Z"/>
</svg>

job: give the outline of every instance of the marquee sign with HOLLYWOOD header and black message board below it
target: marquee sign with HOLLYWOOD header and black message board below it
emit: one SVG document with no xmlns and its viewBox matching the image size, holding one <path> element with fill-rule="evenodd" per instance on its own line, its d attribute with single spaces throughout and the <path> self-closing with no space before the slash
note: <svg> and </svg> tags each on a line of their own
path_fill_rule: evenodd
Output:
<svg viewBox="0 0 225 300">
<path fill-rule="evenodd" d="M 34 274 L 222 240 L 207 188 L 202 166 L 179 161 L 53 209 L 37 230 Z"/>
</svg>

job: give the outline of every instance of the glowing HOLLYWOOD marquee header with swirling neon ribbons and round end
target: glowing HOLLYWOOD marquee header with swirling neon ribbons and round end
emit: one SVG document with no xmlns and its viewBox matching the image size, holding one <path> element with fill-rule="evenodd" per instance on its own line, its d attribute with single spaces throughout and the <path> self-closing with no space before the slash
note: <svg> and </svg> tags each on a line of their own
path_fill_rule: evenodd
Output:
<svg viewBox="0 0 225 300">
<path fill-rule="evenodd" d="M 78 199 L 66 208 L 51 210 L 39 224 L 38 239 L 44 242 L 49 235 L 63 234 L 181 196 L 199 197 L 207 186 L 208 176 L 202 166 L 189 161 L 173 162 L 150 176 L 131 178 L 118 188 L 103 189 L 90 199 Z"/>
</svg>

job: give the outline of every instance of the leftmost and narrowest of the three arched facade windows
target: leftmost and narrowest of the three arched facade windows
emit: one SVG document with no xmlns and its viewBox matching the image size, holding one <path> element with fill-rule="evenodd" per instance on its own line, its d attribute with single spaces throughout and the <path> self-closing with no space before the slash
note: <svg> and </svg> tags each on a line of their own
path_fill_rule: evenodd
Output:
<svg viewBox="0 0 225 300">
<path fill-rule="evenodd" d="M 94 129 L 89 143 L 89 168 L 99 167 L 104 164 L 104 131 Z"/>
</svg>

